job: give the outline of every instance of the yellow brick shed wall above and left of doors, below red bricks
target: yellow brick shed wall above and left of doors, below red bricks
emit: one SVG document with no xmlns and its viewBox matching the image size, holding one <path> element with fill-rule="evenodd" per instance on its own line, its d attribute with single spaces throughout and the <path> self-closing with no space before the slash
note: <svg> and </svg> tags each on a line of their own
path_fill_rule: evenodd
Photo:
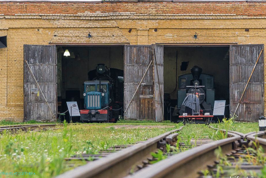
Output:
<svg viewBox="0 0 266 178">
<path fill-rule="evenodd" d="M 114 17 L 109 20 L 44 17 L 0 13 L 0 36 L 7 35 L 8 46 L 0 49 L 0 120 L 23 120 L 24 44 L 266 44 L 265 18 L 236 16 L 234 19 L 226 15 L 222 19 L 195 15 L 175 19 Z M 132 29 L 130 33 L 129 29 Z M 93 38 L 86 38 L 88 32 Z M 195 32 L 197 39 L 192 38 Z"/>
</svg>

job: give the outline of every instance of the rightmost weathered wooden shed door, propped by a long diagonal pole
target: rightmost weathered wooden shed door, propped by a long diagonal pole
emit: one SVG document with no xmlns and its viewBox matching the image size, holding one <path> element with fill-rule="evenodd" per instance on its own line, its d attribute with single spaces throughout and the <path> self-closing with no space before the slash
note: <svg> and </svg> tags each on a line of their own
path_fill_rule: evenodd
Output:
<svg viewBox="0 0 266 178">
<path fill-rule="evenodd" d="M 263 44 L 230 46 L 230 113 L 233 115 Z M 264 53 L 264 52 L 263 52 Z M 239 121 L 264 115 L 264 55 L 261 55 L 236 112 Z"/>
</svg>

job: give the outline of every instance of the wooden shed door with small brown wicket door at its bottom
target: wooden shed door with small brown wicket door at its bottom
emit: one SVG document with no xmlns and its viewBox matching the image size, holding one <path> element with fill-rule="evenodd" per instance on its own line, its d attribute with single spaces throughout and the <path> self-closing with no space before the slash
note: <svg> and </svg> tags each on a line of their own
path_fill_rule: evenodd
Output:
<svg viewBox="0 0 266 178">
<path fill-rule="evenodd" d="M 124 47 L 124 108 L 129 105 L 152 57 L 150 45 L 126 45 Z M 151 65 L 128 110 L 124 113 L 124 117 L 154 120 L 153 93 Z"/>
</svg>

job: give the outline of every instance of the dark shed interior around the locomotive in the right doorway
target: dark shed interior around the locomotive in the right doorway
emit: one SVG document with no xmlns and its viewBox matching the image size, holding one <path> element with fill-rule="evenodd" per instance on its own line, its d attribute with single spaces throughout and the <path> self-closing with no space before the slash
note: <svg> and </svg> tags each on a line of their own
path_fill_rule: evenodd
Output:
<svg viewBox="0 0 266 178">
<path fill-rule="evenodd" d="M 178 78 L 191 73 L 193 66 L 214 77 L 214 99 L 229 104 L 229 46 L 164 47 L 164 103 L 168 99 L 171 107 L 178 106 Z M 171 116 L 175 115 L 173 112 L 176 111 L 171 108 Z M 165 119 L 170 120 L 169 106 L 165 105 L 164 113 Z M 225 116 L 229 117 L 229 107 L 225 108 Z"/>
</svg>

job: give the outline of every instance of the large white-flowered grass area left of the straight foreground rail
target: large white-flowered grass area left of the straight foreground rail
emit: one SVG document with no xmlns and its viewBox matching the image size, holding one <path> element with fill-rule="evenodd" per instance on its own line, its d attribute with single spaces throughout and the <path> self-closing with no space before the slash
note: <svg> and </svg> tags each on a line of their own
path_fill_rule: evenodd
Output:
<svg viewBox="0 0 266 178">
<path fill-rule="evenodd" d="M 117 125 L 123 125 L 116 128 Z M 136 127 L 127 127 L 135 125 Z M 141 127 L 146 125 L 147 127 Z M 150 127 L 153 126 L 153 127 Z M 158 127 L 155 127 L 158 125 Z M 72 162 L 65 157 L 95 154 L 115 145 L 133 144 L 179 128 L 181 124 L 160 123 L 108 123 L 71 124 L 47 131 L 4 131 L 0 135 L 0 172 L 33 172 L 21 177 L 54 177 L 85 164 Z M 139 127 L 138 127 L 139 126 Z M 14 176 L 14 175 L 12 175 Z"/>
</svg>

